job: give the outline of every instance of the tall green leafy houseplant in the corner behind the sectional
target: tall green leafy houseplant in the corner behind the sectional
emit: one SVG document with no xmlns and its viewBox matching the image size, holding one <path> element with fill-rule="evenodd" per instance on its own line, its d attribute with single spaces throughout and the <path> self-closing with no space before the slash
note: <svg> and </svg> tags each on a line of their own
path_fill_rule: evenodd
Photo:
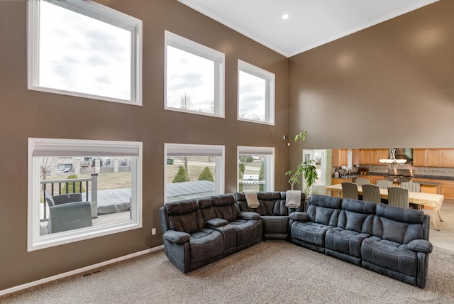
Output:
<svg viewBox="0 0 454 304">
<path fill-rule="evenodd" d="M 301 141 L 301 146 L 300 146 L 300 151 L 302 153 L 303 151 L 303 143 L 306 141 L 306 137 L 308 136 L 307 131 L 301 131 L 297 136 L 295 136 L 295 143 L 298 141 Z M 294 188 L 295 183 L 299 183 L 299 178 L 302 176 L 304 180 L 306 181 L 306 190 L 303 190 L 304 194 L 309 196 L 311 193 L 311 187 L 314 185 L 315 181 L 317 178 L 319 178 L 319 175 L 317 174 L 317 169 L 315 165 L 314 160 L 309 160 L 309 161 L 301 161 L 301 163 L 298 164 L 297 170 L 288 170 L 285 175 L 289 176 L 289 184 L 292 187 L 292 190 Z"/>
</svg>

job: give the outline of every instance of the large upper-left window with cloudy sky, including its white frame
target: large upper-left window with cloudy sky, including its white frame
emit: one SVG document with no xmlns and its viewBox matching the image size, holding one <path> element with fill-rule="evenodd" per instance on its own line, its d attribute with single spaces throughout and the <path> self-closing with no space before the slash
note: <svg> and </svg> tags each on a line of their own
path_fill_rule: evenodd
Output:
<svg viewBox="0 0 454 304">
<path fill-rule="evenodd" d="M 27 3 L 28 89 L 142 104 L 142 21 L 94 1 Z"/>
</svg>

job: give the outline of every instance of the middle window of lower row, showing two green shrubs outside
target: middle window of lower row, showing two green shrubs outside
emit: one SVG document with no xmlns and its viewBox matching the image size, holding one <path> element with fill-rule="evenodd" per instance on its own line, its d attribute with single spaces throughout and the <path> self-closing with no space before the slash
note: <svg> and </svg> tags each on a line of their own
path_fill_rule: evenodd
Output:
<svg viewBox="0 0 454 304">
<path fill-rule="evenodd" d="M 224 192 L 224 146 L 165 144 L 166 202 Z"/>
</svg>

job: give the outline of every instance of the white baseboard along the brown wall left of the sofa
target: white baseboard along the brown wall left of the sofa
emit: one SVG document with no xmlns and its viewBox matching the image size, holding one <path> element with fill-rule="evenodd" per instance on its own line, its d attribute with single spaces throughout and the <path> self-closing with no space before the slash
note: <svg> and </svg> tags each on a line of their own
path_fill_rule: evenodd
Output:
<svg viewBox="0 0 454 304">
<path fill-rule="evenodd" d="M 67 271 L 65 273 L 59 273 L 59 274 L 57 274 L 55 276 L 50 276 L 48 278 L 42 278 L 42 279 L 40 279 L 38 281 L 33 281 L 33 282 L 25 283 L 25 284 L 22 284 L 22 285 L 19 285 L 19 286 L 14 286 L 14 287 L 11 287 L 11 288 L 7 288 L 7 289 L 4 289 L 3 291 L 0 291 L 0 295 L 6 295 L 8 293 L 14 293 L 16 291 L 21 291 L 22 289 L 30 288 L 30 287 L 37 286 L 37 285 L 40 285 L 40 284 L 43 284 L 43 283 L 47 283 L 47 282 L 50 282 L 50 281 L 55 281 L 55 280 L 58 280 L 59 278 L 65 278 L 67 276 L 74 276 L 74 274 L 77 274 L 77 273 L 84 273 L 84 272 L 90 271 L 90 270 L 95 269 L 95 268 L 99 268 L 99 267 L 106 266 L 106 265 L 109 265 L 109 264 L 114 264 L 114 263 L 119 262 L 119 261 L 124 261 L 124 260 L 127 260 L 127 259 L 131 259 L 131 258 L 134 258 L 135 256 L 141 256 L 143 254 L 149 254 L 150 252 L 157 251 L 157 250 L 160 250 L 160 249 L 164 249 L 164 245 L 156 246 L 156 247 L 153 247 L 153 248 L 150 248 L 150 249 L 146 249 L 146 250 L 143 250 L 143 251 L 138 251 L 138 252 L 135 252 L 133 254 L 128 254 L 127 256 L 120 256 L 120 257 L 118 257 L 116 259 L 111 259 L 109 261 L 104 261 L 104 262 L 101 262 L 101 263 L 98 263 L 98 264 L 86 266 L 86 267 L 79 268 L 79 269 L 74 269 L 73 271 Z"/>
</svg>

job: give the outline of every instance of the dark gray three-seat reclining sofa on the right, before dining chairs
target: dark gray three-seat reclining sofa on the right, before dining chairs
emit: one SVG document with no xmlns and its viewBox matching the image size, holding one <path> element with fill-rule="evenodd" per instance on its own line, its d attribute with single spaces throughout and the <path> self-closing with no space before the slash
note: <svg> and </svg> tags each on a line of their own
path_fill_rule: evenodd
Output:
<svg viewBox="0 0 454 304">
<path fill-rule="evenodd" d="M 290 215 L 292 242 L 424 288 L 430 218 L 420 210 L 313 195 Z"/>
</svg>

